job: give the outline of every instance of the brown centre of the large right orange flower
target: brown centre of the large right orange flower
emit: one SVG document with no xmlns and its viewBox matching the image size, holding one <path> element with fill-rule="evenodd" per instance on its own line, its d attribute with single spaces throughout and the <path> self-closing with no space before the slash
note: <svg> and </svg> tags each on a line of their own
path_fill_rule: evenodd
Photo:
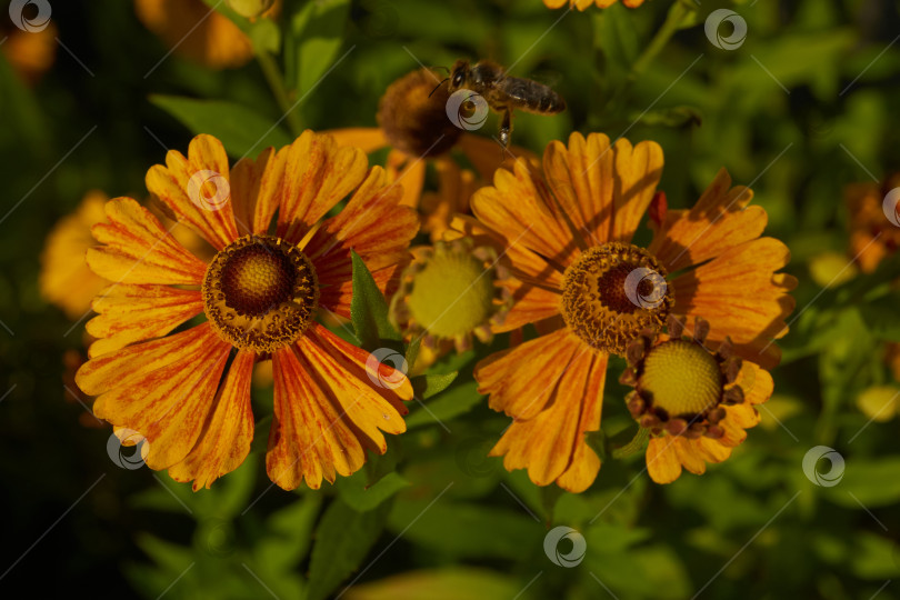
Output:
<svg viewBox="0 0 900 600">
<path fill-rule="evenodd" d="M 672 308 L 666 270 L 643 248 L 608 242 L 566 269 L 562 318 L 589 346 L 624 356 L 644 328 L 659 329 Z"/>
</svg>

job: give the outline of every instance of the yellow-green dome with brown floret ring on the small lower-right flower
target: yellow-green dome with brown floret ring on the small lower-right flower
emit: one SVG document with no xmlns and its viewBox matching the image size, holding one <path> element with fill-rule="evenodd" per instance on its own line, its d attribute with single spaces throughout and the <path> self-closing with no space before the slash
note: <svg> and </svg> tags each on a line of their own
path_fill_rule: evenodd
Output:
<svg viewBox="0 0 900 600">
<path fill-rule="evenodd" d="M 727 414 L 722 407 L 744 399 L 736 383 L 741 359 L 732 354 L 728 338 L 716 352 L 703 346 L 706 321 L 697 320 L 693 338 L 682 332 L 682 323 L 670 317 L 670 339 L 657 342 L 656 333 L 647 330 L 629 344 L 629 367 L 620 379 L 634 387 L 627 397 L 628 409 L 653 436 L 721 438 L 724 430 L 719 422 Z"/>
</svg>

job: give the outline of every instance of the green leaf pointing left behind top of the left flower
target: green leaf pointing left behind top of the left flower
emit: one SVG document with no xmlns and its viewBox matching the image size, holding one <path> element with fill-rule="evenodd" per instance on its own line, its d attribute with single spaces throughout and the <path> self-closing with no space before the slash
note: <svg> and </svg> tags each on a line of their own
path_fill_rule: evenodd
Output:
<svg viewBox="0 0 900 600">
<path fill-rule="evenodd" d="M 290 136 L 272 121 L 234 102 L 159 94 L 151 96 L 150 101 L 192 133 L 219 138 L 232 157 L 254 156 L 263 148 L 281 148 L 291 142 Z"/>
</svg>

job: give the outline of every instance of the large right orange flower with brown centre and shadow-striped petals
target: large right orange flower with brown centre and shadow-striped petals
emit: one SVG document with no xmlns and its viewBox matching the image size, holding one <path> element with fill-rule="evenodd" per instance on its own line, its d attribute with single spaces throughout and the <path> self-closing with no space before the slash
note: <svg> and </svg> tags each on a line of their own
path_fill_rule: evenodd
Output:
<svg viewBox="0 0 900 600">
<path fill-rule="evenodd" d="M 600 428 L 609 356 L 624 356 L 669 314 L 708 320 L 713 349 L 729 336 L 737 356 L 764 368 L 780 360 L 771 340 L 787 332 L 796 280 L 776 273 L 787 247 L 759 238 L 766 211 L 744 208 L 752 192 L 731 188 L 722 170 L 693 208 L 667 212 L 654 193 L 661 172 L 654 142 L 573 133 L 568 148 L 548 146 L 543 177 L 523 161 L 498 170 L 472 198 L 480 222 L 454 222 L 512 263 L 504 286 L 516 304 L 498 330 L 534 323 L 540 333 L 476 367 L 491 408 L 514 419 L 491 453 L 539 486 L 582 491 L 593 482 L 600 459 L 584 433 Z M 654 196 L 644 249 L 631 238 Z"/>
</svg>

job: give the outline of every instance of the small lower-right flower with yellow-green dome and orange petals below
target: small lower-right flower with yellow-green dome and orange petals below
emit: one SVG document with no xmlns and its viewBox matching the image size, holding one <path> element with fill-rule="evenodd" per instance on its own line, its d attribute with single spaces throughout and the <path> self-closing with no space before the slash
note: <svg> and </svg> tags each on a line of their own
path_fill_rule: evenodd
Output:
<svg viewBox="0 0 900 600">
<path fill-rule="evenodd" d="M 732 353 L 726 338 L 712 352 L 704 346 L 709 324 L 698 320 L 693 338 L 669 318 L 668 334 L 644 332 L 627 351 L 623 383 L 636 390 L 628 408 L 640 427 L 650 430 L 647 471 L 657 483 L 671 483 L 682 467 L 696 474 L 707 462 L 721 462 L 756 427 L 756 404 L 773 390 L 768 371 Z"/>
</svg>

